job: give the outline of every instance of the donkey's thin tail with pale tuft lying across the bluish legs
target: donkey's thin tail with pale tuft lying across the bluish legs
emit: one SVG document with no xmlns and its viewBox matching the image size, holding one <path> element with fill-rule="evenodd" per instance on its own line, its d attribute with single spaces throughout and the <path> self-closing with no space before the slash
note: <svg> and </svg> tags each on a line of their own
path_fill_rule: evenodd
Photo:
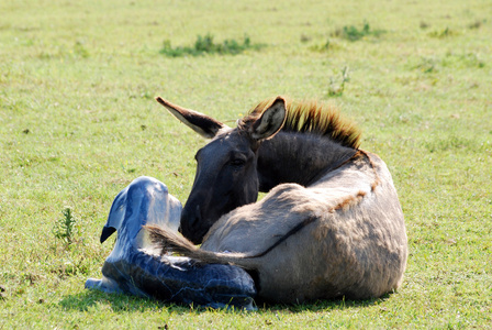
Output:
<svg viewBox="0 0 492 330">
<path fill-rule="evenodd" d="M 144 228 L 147 230 L 150 241 L 161 254 L 172 251 L 208 264 L 236 264 L 243 268 L 254 268 L 254 265 L 245 260 L 247 256 L 243 253 L 217 253 L 201 250 L 176 232 L 156 226 L 144 226 Z"/>
</svg>

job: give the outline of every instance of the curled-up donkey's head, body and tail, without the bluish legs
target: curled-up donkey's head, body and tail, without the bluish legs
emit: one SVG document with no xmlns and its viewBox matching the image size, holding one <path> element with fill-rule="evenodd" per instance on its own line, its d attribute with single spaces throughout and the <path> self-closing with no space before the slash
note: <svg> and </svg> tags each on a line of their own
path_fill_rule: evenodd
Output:
<svg viewBox="0 0 492 330">
<path fill-rule="evenodd" d="M 336 109 L 277 97 L 228 128 L 157 101 L 212 139 L 195 155 L 185 238 L 146 228 L 163 253 L 243 267 L 271 302 L 366 299 L 401 285 L 407 240 L 391 174 Z M 258 191 L 269 193 L 255 202 Z"/>
</svg>

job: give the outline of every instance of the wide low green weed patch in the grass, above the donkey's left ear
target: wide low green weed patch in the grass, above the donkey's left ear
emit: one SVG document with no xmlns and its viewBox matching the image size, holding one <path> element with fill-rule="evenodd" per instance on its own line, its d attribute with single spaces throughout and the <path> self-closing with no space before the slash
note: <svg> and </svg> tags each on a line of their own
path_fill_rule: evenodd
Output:
<svg viewBox="0 0 492 330">
<path fill-rule="evenodd" d="M 198 35 L 197 41 L 192 47 L 172 47 L 169 40 L 164 41 L 160 54 L 169 57 L 180 57 L 186 55 L 200 56 L 203 54 L 220 54 L 220 55 L 237 55 L 246 50 L 258 51 L 264 45 L 251 44 L 249 36 L 245 35 L 243 42 L 237 42 L 236 40 L 225 40 L 222 43 L 214 43 L 213 35 L 210 33 L 205 36 Z"/>
</svg>

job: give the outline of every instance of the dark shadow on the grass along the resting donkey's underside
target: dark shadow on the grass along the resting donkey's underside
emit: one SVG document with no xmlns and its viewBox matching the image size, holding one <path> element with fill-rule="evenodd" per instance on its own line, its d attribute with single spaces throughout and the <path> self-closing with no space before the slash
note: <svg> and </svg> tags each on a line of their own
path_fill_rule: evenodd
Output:
<svg viewBox="0 0 492 330">
<path fill-rule="evenodd" d="M 344 298 L 332 300 L 318 300 L 310 304 L 264 304 L 257 302 L 258 310 L 256 312 L 317 312 L 317 311 L 331 311 L 331 310 L 344 310 L 350 308 L 364 308 L 370 307 L 387 300 L 390 295 L 384 295 L 380 298 L 367 299 L 367 300 L 347 300 Z M 88 311 L 91 309 L 103 308 L 101 306 L 109 305 L 114 312 L 124 311 L 152 311 L 167 309 L 168 312 L 176 314 L 201 314 L 210 310 L 214 310 L 209 307 L 200 307 L 176 302 L 164 302 L 156 299 L 141 298 L 130 295 L 119 294 L 105 294 L 98 290 L 85 290 L 79 294 L 68 295 L 62 301 L 59 306 L 64 309 Z M 225 312 L 243 312 L 234 308 L 223 309 Z"/>
</svg>

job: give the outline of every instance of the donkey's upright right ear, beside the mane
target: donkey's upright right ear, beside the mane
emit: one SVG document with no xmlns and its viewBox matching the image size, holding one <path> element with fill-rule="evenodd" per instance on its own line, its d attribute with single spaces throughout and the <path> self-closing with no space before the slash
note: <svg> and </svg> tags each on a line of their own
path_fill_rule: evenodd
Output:
<svg viewBox="0 0 492 330">
<path fill-rule="evenodd" d="M 278 97 L 270 108 L 265 110 L 261 117 L 253 123 L 249 131 L 251 138 L 255 140 L 265 140 L 273 136 L 283 127 L 286 116 L 286 100 Z"/>
</svg>

